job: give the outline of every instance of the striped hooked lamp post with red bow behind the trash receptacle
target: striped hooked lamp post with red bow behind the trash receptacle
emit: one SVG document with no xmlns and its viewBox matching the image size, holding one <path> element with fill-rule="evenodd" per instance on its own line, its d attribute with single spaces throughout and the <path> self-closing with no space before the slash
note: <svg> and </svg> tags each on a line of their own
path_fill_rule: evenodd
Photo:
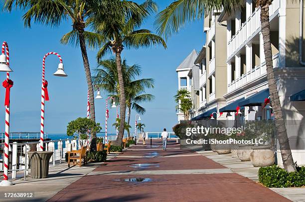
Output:
<svg viewBox="0 0 305 202">
<path fill-rule="evenodd" d="M 41 116 L 40 116 L 40 150 L 43 151 L 43 135 L 44 135 L 44 101 L 49 100 L 49 95 L 48 95 L 48 82 L 44 78 L 44 73 L 45 73 L 45 58 L 48 55 L 56 55 L 59 58 L 59 64 L 57 71 L 53 74 L 54 76 L 58 77 L 67 77 L 68 75 L 64 72 L 63 64 L 62 64 L 62 59 L 61 56 L 58 53 L 55 52 L 49 52 L 44 55 L 42 59 L 42 87 L 41 87 Z"/>
</svg>

